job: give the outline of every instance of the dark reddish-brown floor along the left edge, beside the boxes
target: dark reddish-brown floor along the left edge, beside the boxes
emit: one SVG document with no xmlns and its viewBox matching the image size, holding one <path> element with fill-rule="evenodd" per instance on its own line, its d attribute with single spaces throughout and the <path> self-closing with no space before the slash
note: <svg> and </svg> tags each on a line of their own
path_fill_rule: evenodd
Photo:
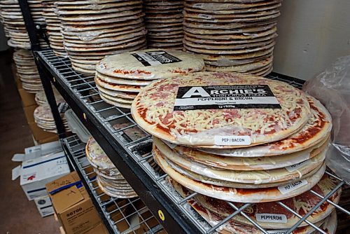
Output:
<svg viewBox="0 0 350 234">
<path fill-rule="evenodd" d="M 9 51 L 0 53 L 0 233 L 59 233 L 53 216 L 42 218 L 34 202 L 27 200 L 19 179 L 11 180 L 11 170 L 18 165 L 11 161 L 13 154 L 34 145 L 15 88 L 11 56 Z"/>
</svg>

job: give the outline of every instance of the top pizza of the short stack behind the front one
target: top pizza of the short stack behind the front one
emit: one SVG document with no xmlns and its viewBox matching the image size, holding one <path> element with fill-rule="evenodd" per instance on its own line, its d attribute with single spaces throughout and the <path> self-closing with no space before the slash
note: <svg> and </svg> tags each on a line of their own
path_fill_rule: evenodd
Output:
<svg viewBox="0 0 350 234">
<path fill-rule="evenodd" d="M 197 55 L 176 50 L 148 49 L 104 57 L 98 74 L 127 79 L 156 80 L 204 69 Z"/>
</svg>

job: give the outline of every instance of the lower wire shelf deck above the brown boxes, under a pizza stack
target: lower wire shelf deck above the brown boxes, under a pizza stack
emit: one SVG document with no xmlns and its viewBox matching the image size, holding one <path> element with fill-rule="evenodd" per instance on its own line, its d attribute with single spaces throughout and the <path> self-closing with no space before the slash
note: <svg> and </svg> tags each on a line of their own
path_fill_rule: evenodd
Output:
<svg viewBox="0 0 350 234">
<path fill-rule="evenodd" d="M 63 145 L 111 233 L 151 234 L 163 230 L 140 198 L 112 198 L 101 191 L 96 173 L 87 161 L 85 144 L 76 135 L 63 139 Z"/>
</svg>

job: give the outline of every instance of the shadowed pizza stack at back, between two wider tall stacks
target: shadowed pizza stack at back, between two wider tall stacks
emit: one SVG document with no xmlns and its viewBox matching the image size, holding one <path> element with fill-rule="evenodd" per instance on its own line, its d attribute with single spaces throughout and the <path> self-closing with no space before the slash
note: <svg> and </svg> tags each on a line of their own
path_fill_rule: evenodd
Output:
<svg viewBox="0 0 350 234">
<path fill-rule="evenodd" d="M 183 49 L 183 1 L 144 1 L 148 48 Z"/>
</svg>

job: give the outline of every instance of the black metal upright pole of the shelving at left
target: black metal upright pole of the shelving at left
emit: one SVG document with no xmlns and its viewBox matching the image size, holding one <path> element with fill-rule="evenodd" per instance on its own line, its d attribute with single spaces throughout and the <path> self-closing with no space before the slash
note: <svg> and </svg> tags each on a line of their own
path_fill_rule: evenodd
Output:
<svg viewBox="0 0 350 234">
<path fill-rule="evenodd" d="M 31 51 L 33 52 L 36 67 L 38 68 L 38 74 L 40 76 L 41 83 L 43 84 L 44 92 L 45 92 L 46 98 L 48 99 L 48 104 L 50 105 L 52 115 L 55 120 L 57 134 L 59 139 L 63 139 L 64 137 L 66 137 L 66 133 L 64 130 L 64 125 L 62 123 L 61 115 L 57 107 L 55 94 L 53 93 L 53 90 L 52 90 L 52 85 L 50 82 L 50 74 L 48 72 L 45 72 L 45 69 L 43 69 L 43 65 L 38 60 L 38 55 L 36 53 L 36 51 L 41 50 L 40 42 L 37 36 L 38 30 L 41 29 L 41 25 L 34 24 L 33 18 L 31 18 L 28 1 L 19 0 L 18 2 L 20 4 L 23 19 L 25 20 L 25 27 L 29 35 L 29 39 L 31 43 Z"/>
</svg>

